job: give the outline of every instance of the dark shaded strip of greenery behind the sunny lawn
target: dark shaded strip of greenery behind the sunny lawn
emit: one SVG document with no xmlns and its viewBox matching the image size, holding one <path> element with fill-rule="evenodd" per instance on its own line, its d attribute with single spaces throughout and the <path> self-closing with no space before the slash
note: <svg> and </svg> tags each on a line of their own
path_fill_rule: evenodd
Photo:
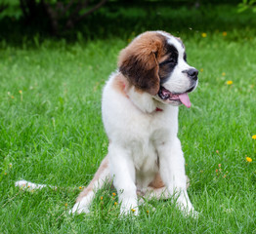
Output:
<svg viewBox="0 0 256 234">
<path fill-rule="evenodd" d="M 33 4 L 32 8 L 29 8 Z M 72 2 L 67 8 L 68 3 Z M 2 0 L 0 2 L 0 41 L 19 45 L 34 36 L 67 41 L 82 37 L 86 40 L 108 37 L 130 38 L 146 30 L 161 29 L 177 33 L 193 30 L 235 30 L 256 27 L 256 14 L 239 13 L 239 0 L 199 1 L 145 1 L 108 0 L 103 6 L 89 12 L 101 1 L 79 0 Z M 21 5 L 23 6 L 21 7 Z M 30 4 L 30 5 L 29 5 Z M 56 15 L 58 26 L 46 11 L 47 4 Z M 66 8 L 64 14 L 62 9 Z M 79 11 L 77 10 L 79 9 Z M 214 11 L 213 11 L 214 9 Z M 81 18 L 68 24 L 72 18 Z"/>
</svg>

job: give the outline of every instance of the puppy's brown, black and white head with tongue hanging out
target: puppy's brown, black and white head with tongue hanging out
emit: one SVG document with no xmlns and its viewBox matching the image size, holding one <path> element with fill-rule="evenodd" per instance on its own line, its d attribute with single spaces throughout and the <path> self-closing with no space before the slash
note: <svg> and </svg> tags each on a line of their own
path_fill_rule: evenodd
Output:
<svg viewBox="0 0 256 234">
<path fill-rule="evenodd" d="M 163 31 L 145 32 L 121 51 L 118 66 L 138 91 L 163 103 L 191 106 L 188 93 L 197 86 L 198 71 L 187 63 L 179 38 Z"/>
</svg>

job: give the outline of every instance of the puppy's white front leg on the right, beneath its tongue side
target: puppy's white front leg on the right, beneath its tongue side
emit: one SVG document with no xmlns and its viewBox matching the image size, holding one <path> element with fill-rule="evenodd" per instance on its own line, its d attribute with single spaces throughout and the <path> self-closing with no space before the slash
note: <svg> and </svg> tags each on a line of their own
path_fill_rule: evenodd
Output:
<svg viewBox="0 0 256 234">
<path fill-rule="evenodd" d="M 186 214 L 195 214 L 187 192 L 185 159 L 178 137 L 158 148 L 160 176 L 169 193 L 177 199 L 177 205 Z"/>
</svg>

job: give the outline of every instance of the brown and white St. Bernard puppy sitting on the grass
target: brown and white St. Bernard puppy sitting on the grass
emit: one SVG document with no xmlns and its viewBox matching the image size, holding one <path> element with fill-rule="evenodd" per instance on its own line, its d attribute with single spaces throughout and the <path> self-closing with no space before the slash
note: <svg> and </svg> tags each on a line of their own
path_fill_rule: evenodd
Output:
<svg viewBox="0 0 256 234">
<path fill-rule="evenodd" d="M 108 153 L 71 213 L 88 213 L 97 190 L 112 181 L 123 215 L 138 215 L 138 196 L 174 198 L 195 214 L 177 137 L 178 106 L 191 107 L 197 85 L 186 58 L 181 39 L 163 31 L 145 32 L 121 51 L 103 93 Z"/>
</svg>

